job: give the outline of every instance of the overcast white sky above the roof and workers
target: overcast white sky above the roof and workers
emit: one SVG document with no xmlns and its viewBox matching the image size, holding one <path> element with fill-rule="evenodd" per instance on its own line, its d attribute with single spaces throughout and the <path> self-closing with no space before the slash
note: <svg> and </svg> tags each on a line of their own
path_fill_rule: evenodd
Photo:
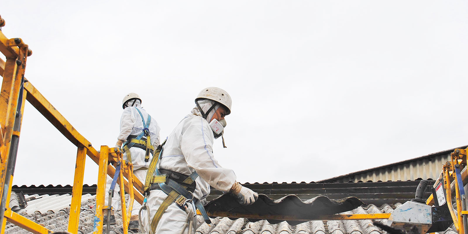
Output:
<svg viewBox="0 0 468 234">
<path fill-rule="evenodd" d="M 209 86 L 214 154 L 244 182 L 310 182 L 468 144 L 466 1 L 4 1 L 25 76 L 97 149 L 138 93 L 165 138 Z M 29 103 L 14 184 L 73 184 L 76 147 Z M 87 158 L 85 183 L 97 182 Z"/>
</svg>

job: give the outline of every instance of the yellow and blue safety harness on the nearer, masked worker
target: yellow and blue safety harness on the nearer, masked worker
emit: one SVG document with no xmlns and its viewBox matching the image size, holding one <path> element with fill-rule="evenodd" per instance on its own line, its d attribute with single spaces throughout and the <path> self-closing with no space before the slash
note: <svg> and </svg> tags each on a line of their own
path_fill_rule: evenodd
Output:
<svg viewBox="0 0 468 234">
<path fill-rule="evenodd" d="M 158 169 L 159 160 L 162 155 L 163 147 L 166 141 L 164 141 L 157 150 L 160 150 L 158 157 L 153 157 L 151 160 L 150 166 L 148 168 L 148 173 L 146 174 L 145 181 L 145 199 L 144 205 L 141 209 L 148 209 L 148 219 L 149 219 L 149 208 L 146 207 L 146 196 L 150 190 L 162 190 L 168 195 L 166 199 L 162 202 L 161 206 L 158 208 L 156 213 L 151 220 L 151 233 L 156 231 L 159 220 L 161 219 L 162 214 L 166 211 L 169 205 L 175 202 L 181 207 L 181 209 L 187 212 L 187 220 L 190 216 L 190 226 L 193 222 L 194 212 L 190 212 L 189 204 L 192 206 L 193 211 L 198 209 L 205 219 L 205 222 L 210 224 L 211 220 L 208 217 L 208 214 L 205 211 L 203 204 L 195 197 L 193 197 L 193 191 L 195 190 L 195 179 L 197 179 L 197 172 L 193 172 L 190 176 L 183 175 L 181 173 Z M 141 212 L 140 209 L 140 212 Z M 186 226 L 185 226 L 186 227 Z M 185 229 L 185 228 L 184 228 Z M 184 230 L 183 230 L 184 231 Z"/>
</svg>

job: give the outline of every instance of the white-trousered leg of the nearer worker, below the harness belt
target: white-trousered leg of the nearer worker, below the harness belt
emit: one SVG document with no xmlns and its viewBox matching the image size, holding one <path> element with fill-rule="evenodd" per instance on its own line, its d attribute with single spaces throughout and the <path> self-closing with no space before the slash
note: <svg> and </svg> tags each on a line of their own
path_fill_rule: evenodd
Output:
<svg viewBox="0 0 468 234">
<path fill-rule="evenodd" d="M 147 205 L 150 208 L 150 216 L 146 210 L 141 211 L 141 221 L 143 227 L 145 227 L 146 233 L 149 233 L 151 220 L 154 217 L 154 214 L 158 210 L 159 206 L 162 204 L 167 195 L 161 190 L 152 190 L 147 197 Z M 156 227 L 156 234 L 174 234 L 180 233 L 182 227 L 185 224 L 185 219 L 187 218 L 187 213 L 183 211 L 176 203 L 172 203 L 168 206 L 168 209 L 162 214 L 161 219 L 159 220 L 158 226 Z M 194 220 L 196 222 L 196 218 Z M 193 227 L 194 228 L 194 227 Z M 184 233 L 188 234 L 189 227 L 185 229 Z M 195 233 L 195 229 L 192 230 L 192 233 Z"/>
</svg>

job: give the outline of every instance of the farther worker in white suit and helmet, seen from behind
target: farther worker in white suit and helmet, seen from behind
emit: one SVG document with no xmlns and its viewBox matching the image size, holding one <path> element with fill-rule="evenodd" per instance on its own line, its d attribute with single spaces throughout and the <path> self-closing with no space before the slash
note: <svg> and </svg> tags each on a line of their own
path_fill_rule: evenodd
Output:
<svg viewBox="0 0 468 234">
<path fill-rule="evenodd" d="M 120 118 L 120 134 L 117 137 L 117 143 L 115 147 L 121 148 L 124 153 L 124 160 L 131 160 L 133 164 L 133 175 L 136 176 L 140 182 L 145 183 L 146 172 L 153 157 L 153 150 L 160 145 L 159 132 L 161 128 L 154 118 L 151 118 L 145 109 L 141 108 L 141 98 L 135 93 L 125 95 L 122 101 L 122 108 L 124 112 Z M 148 122 L 149 120 L 149 122 Z M 146 140 L 149 137 L 152 150 L 149 150 L 149 154 L 146 154 Z M 132 139 L 139 138 L 140 144 L 131 144 Z M 125 147 L 126 146 L 126 147 Z M 149 147 L 151 147 L 149 146 Z M 107 181 L 106 191 L 110 189 L 112 179 Z M 115 188 L 114 197 L 112 197 L 113 207 L 120 205 L 120 196 L 117 191 L 120 191 L 118 184 Z M 107 204 L 108 196 L 106 192 L 105 203 Z M 130 219 L 129 230 L 136 231 L 139 229 L 138 211 L 141 205 L 134 201 L 132 209 L 132 217 Z M 114 212 L 114 210 L 112 210 Z M 111 215 L 111 222 L 113 215 Z M 104 215 L 104 219 L 107 216 Z M 107 221 L 107 220 L 105 220 Z M 104 221 L 104 224 L 105 224 Z"/>
</svg>

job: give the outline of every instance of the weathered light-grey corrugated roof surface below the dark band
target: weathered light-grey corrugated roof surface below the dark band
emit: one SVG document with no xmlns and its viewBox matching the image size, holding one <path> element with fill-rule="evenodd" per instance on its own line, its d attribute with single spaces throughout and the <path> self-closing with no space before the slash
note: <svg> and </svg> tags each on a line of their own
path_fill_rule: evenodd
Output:
<svg viewBox="0 0 468 234">
<path fill-rule="evenodd" d="M 48 199 L 55 199 L 56 196 L 48 196 Z M 95 212 L 95 198 L 88 199 L 81 203 L 79 234 L 90 234 L 93 231 L 93 220 Z M 364 214 L 364 213 L 389 213 L 401 205 L 397 203 L 385 204 L 381 206 L 367 205 L 359 206 L 344 214 Z M 33 220 L 53 232 L 66 231 L 70 209 L 64 208 L 58 212 L 48 211 L 45 213 L 33 212 L 20 213 L 26 218 Z M 116 212 L 116 225 L 111 225 L 111 234 L 122 234 L 121 211 Z M 386 220 L 380 220 L 385 223 Z M 197 217 L 196 234 L 386 234 L 375 227 L 371 220 L 315 220 L 298 225 L 290 225 L 287 222 L 271 224 L 267 220 L 250 222 L 248 219 L 215 218 L 212 224 L 208 225 L 201 216 Z M 104 226 L 105 227 L 105 226 Z M 5 234 L 26 234 L 28 231 L 8 223 Z M 453 229 L 448 228 L 441 234 L 456 234 Z"/>
</svg>

